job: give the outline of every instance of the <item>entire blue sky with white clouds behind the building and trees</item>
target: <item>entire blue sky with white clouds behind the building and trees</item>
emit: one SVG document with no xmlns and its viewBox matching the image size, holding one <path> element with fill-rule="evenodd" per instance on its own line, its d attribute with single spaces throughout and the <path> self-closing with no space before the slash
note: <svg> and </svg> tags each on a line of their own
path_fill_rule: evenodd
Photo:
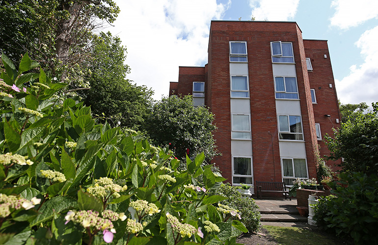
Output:
<svg viewBox="0 0 378 245">
<path fill-rule="evenodd" d="M 204 66 L 211 20 L 294 21 L 328 40 L 341 103 L 378 101 L 378 0 L 115 0 L 110 31 L 127 48 L 127 78 L 168 96 L 179 66 Z"/>
</svg>

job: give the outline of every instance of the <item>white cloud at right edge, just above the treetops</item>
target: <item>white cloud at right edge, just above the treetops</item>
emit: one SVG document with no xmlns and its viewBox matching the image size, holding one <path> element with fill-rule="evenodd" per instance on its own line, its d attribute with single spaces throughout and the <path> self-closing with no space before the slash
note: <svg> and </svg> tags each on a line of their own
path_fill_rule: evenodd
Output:
<svg viewBox="0 0 378 245">
<path fill-rule="evenodd" d="M 377 102 L 378 91 L 378 26 L 365 31 L 355 45 L 361 49 L 364 63 L 353 65 L 351 73 L 341 81 L 336 80 L 337 95 L 341 103 Z"/>
</svg>

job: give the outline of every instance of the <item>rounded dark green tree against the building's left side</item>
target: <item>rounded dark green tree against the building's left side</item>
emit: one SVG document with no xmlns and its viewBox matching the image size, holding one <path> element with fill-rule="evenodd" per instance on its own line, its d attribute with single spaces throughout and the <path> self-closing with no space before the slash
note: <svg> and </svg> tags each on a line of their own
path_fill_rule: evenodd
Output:
<svg viewBox="0 0 378 245">
<path fill-rule="evenodd" d="M 186 153 L 193 156 L 199 152 L 212 159 L 216 155 L 213 122 L 214 115 L 205 107 L 194 107 L 191 96 L 171 96 L 154 104 L 145 130 L 153 142 L 169 145 L 181 159 Z"/>
</svg>

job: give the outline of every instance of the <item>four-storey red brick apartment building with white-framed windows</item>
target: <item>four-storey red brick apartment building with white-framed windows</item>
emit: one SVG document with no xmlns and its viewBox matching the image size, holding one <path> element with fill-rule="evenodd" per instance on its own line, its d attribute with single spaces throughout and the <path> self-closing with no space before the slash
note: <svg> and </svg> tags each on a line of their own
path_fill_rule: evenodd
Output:
<svg viewBox="0 0 378 245">
<path fill-rule="evenodd" d="M 215 114 L 212 162 L 233 185 L 316 178 L 314 152 L 339 126 L 327 41 L 303 40 L 296 22 L 212 21 L 208 64 L 180 67 L 170 95 Z"/>
</svg>

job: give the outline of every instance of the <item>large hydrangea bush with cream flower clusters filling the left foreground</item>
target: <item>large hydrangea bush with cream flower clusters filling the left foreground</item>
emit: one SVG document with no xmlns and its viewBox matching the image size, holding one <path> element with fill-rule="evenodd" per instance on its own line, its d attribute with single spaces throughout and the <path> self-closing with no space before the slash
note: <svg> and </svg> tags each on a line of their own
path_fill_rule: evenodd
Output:
<svg viewBox="0 0 378 245">
<path fill-rule="evenodd" d="M 0 244 L 236 244 L 247 232 L 209 194 L 225 179 L 204 154 L 179 171 L 167 148 L 60 101 L 65 84 L 27 55 L 18 70 L 1 58 Z"/>
</svg>

